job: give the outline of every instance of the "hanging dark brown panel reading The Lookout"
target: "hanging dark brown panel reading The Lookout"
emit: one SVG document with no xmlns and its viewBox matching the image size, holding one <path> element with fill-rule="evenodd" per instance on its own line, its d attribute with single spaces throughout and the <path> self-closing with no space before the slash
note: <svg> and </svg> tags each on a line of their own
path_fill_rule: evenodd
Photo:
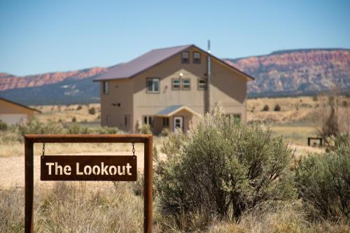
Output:
<svg viewBox="0 0 350 233">
<path fill-rule="evenodd" d="M 137 181 L 137 157 L 129 155 L 41 156 L 41 181 Z"/>
</svg>

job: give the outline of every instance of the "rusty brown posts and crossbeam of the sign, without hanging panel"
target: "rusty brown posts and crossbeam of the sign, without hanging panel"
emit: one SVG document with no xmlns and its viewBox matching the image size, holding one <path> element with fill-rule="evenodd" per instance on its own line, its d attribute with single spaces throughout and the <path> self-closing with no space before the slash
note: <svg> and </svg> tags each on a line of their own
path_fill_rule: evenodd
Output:
<svg viewBox="0 0 350 233">
<path fill-rule="evenodd" d="M 33 216 L 34 143 L 144 143 L 144 232 L 152 232 L 153 136 L 151 134 L 125 134 L 125 135 L 123 134 L 102 134 L 102 135 L 101 134 L 86 134 L 86 135 L 27 134 L 25 135 L 25 232 L 26 233 L 32 233 L 34 230 L 34 216 Z M 51 157 L 51 156 L 48 155 L 48 157 Z"/>
</svg>

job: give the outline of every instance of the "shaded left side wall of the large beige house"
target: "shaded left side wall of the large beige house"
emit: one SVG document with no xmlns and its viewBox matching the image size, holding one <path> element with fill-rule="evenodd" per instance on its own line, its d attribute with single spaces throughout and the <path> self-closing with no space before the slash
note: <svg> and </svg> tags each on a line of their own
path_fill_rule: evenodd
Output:
<svg viewBox="0 0 350 233">
<path fill-rule="evenodd" d="M 126 132 L 132 131 L 132 99 L 134 90 L 133 79 L 109 80 L 109 93 L 104 94 L 101 82 L 101 124 L 109 127 L 118 127 Z M 120 104 L 120 106 L 118 106 Z M 125 116 L 130 116 L 128 125 L 125 125 Z M 107 122 L 109 117 L 110 122 Z"/>
</svg>

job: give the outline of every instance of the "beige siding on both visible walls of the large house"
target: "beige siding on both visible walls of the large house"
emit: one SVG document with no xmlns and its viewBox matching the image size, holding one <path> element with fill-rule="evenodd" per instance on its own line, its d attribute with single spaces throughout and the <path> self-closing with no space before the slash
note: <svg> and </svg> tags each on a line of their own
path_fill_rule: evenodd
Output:
<svg viewBox="0 0 350 233">
<path fill-rule="evenodd" d="M 181 53 L 166 59 L 132 78 L 109 80 L 109 94 L 103 94 L 101 82 L 102 125 L 118 127 L 127 132 L 136 131 L 143 123 L 144 116 L 156 113 L 173 105 L 183 105 L 198 114 L 204 114 L 207 90 L 198 90 L 198 80 L 207 80 L 207 55 L 192 47 L 190 63 L 181 62 Z M 201 52 L 201 63 L 193 64 L 193 52 Z M 172 80 L 190 79 L 190 90 L 172 90 Z M 160 92 L 146 91 L 147 78 L 160 78 Z M 211 59 L 211 111 L 221 103 L 225 113 L 241 115 L 241 122 L 246 122 L 246 76 L 225 66 L 216 59 Z M 117 87 L 118 86 L 118 87 Z M 112 102 L 120 107 L 112 106 Z M 111 122 L 107 123 L 107 115 Z M 125 127 L 125 115 L 130 115 L 130 127 Z M 193 114 L 180 111 L 169 118 L 169 129 L 174 129 L 174 116 L 183 116 L 184 130 L 189 127 Z M 153 132 L 159 134 L 163 129 L 162 118 L 153 118 Z"/>
</svg>

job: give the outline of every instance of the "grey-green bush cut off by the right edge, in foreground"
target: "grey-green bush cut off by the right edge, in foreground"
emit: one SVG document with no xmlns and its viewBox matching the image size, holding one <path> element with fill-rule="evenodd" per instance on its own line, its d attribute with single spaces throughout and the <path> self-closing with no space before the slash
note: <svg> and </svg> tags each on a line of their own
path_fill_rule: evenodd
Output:
<svg viewBox="0 0 350 233">
<path fill-rule="evenodd" d="M 350 145 L 301 160 L 295 181 L 302 202 L 313 218 L 350 218 Z"/>
</svg>

